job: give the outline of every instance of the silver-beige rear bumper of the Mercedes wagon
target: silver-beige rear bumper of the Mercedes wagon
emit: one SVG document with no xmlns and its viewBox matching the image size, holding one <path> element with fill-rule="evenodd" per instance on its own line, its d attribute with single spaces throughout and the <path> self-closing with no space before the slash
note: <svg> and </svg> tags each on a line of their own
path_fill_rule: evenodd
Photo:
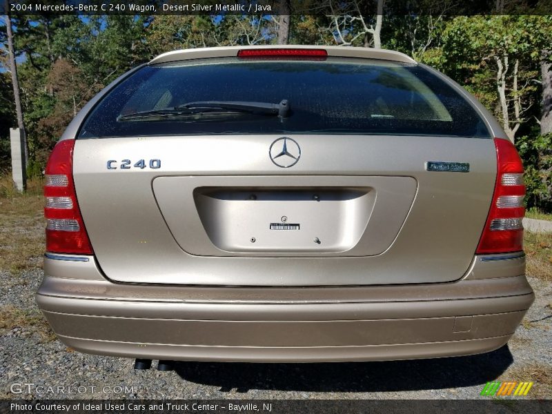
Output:
<svg viewBox="0 0 552 414">
<path fill-rule="evenodd" d="M 508 260 L 507 269 L 524 264 Z M 113 284 L 93 258 L 46 259 L 37 303 L 62 342 L 101 355 L 235 362 L 469 355 L 504 345 L 534 299 L 524 275 L 498 277 L 504 261 L 477 261 L 447 284 L 238 288 Z"/>
</svg>

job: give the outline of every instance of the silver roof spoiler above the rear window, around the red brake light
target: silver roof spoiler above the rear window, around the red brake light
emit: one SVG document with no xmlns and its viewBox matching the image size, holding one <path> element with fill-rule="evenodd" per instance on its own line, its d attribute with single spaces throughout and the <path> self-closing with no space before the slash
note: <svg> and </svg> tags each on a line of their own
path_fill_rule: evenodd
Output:
<svg viewBox="0 0 552 414">
<path fill-rule="evenodd" d="M 297 46 L 297 45 L 270 45 L 270 46 L 226 46 L 219 48 L 197 48 L 173 50 L 159 55 L 149 61 L 148 65 L 166 63 L 172 61 L 184 61 L 189 59 L 204 59 L 209 57 L 235 57 L 239 50 L 266 50 L 266 49 L 322 49 L 328 56 L 334 57 L 360 57 L 364 59 L 382 59 L 402 63 L 417 62 L 395 50 L 375 48 L 355 48 L 351 46 Z"/>
</svg>

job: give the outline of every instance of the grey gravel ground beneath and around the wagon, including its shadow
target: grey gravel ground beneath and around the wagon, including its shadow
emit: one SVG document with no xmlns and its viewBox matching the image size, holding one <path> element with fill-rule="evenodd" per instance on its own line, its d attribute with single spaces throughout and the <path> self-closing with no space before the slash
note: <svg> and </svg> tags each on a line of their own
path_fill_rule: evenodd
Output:
<svg viewBox="0 0 552 414">
<path fill-rule="evenodd" d="M 39 315 L 34 292 L 40 280 L 41 270 L 19 277 L 0 273 L 0 306 Z M 529 280 L 537 299 L 509 345 L 471 357 L 340 364 L 186 362 L 172 372 L 134 371 L 132 359 L 85 355 L 48 339 L 39 331 L 39 319 L 1 334 L 0 398 L 473 399 L 497 378 L 535 381 L 529 397 L 551 398 L 552 284 Z M 17 384 L 66 388 L 65 393 L 39 393 L 30 386 L 29 393 L 23 386 L 19 393 Z"/>
</svg>

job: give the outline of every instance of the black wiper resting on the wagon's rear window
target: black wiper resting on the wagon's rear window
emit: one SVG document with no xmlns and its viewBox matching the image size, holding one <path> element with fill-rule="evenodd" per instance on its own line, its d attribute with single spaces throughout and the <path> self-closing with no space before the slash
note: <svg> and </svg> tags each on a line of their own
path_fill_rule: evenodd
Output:
<svg viewBox="0 0 552 414">
<path fill-rule="evenodd" d="M 117 121 L 132 121 L 148 118 L 186 117 L 193 115 L 232 115 L 250 113 L 287 117 L 289 103 L 283 99 L 280 103 L 246 102 L 246 101 L 197 101 L 183 103 L 172 108 L 161 108 L 133 112 L 128 115 L 119 115 Z"/>
</svg>

